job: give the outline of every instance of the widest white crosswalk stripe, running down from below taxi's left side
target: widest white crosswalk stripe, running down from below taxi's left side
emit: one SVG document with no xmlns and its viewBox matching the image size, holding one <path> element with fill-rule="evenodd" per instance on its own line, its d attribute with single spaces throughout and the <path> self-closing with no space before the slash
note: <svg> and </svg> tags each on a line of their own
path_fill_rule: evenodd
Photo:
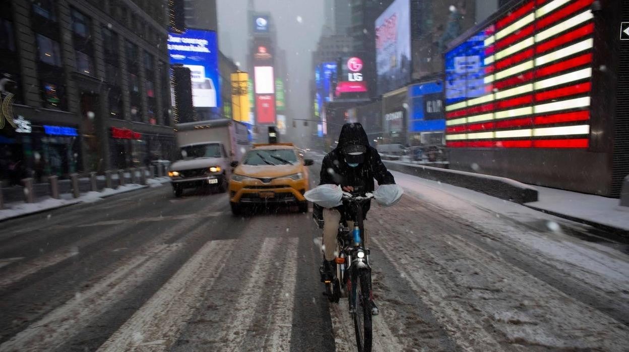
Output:
<svg viewBox="0 0 629 352">
<path fill-rule="evenodd" d="M 235 240 L 209 241 L 98 351 L 167 351 L 209 292 L 235 247 Z"/>
</svg>

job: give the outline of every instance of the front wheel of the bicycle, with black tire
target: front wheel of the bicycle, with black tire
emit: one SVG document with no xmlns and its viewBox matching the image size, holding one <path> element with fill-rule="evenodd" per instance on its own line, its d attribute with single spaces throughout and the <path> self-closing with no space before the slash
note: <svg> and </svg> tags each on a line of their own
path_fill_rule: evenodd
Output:
<svg viewBox="0 0 629 352">
<path fill-rule="evenodd" d="M 353 321 L 359 352 L 371 351 L 371 273 L 355 270 L 352 282 Z"/>
</svg>

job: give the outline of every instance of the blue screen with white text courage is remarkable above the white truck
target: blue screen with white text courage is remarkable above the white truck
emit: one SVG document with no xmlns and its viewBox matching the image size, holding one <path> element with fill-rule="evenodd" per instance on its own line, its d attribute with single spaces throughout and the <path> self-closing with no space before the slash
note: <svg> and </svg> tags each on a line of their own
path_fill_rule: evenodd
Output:
<svg viewBox="0 0 629 352">
<path fill-rule="evenodd" d="M 187 30 L 169 33 L 170 64 L 182 64 L 191 71 L 192 105 L 196 108 L 221 106 L 218 81 L 218 46 L 216 32 Z"/>
</svg>

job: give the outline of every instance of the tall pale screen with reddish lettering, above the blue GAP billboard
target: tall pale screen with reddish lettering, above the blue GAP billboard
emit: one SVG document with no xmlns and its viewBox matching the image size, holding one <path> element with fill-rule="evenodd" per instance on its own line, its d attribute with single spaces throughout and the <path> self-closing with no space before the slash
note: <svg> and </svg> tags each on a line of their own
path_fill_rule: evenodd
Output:
<svg viewBox="0 0 629 352">
<path fill-rule="evenodd" d="M 376 20 L 377 93 L 383 94 L 411 80 L 411 5 L 396 0 Z"/>
</svg>

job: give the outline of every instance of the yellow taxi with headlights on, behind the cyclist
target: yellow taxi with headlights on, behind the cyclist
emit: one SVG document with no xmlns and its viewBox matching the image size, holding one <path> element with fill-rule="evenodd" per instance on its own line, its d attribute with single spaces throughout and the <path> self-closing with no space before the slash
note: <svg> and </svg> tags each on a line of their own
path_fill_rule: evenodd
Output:
<svg viewBox="0 0 629 352">
<path fill-rule="evenodd" d="M 291 143 L 253 144 L 231 174 L 231 212 L 240 215 L 246 207 L 270 204 L 297 205 L 308 212 L 304 193 L 309 188 L 311 159 L 303 159 Z"/>
</svg>

